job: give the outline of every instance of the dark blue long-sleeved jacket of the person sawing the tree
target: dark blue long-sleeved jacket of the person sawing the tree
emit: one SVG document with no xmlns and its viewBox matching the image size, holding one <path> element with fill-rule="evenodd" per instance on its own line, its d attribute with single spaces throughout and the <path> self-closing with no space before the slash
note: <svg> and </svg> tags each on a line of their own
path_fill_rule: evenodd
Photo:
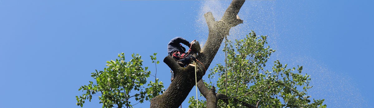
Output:
<svg viewBox="0 0 374 108">
<path fill-rule="evenodd" d="M 181 51 L 181 52 L 184 52 L 183 50 L 183 46 L 181 46 L 179 43 L 183 43 L 184 45 L 187 45 L 189 46 L 190 45 L 190 42 L 188 42 L 186 39 L 182 38 L 182 37 L 175 37 L 173 39 L 170 40 L 170 42 L 168 43 L 168 54 L 169 55 L 172 55 L 173 51 Z M 186 48 L 185 48 L 186 50 Z"/>
</svg>

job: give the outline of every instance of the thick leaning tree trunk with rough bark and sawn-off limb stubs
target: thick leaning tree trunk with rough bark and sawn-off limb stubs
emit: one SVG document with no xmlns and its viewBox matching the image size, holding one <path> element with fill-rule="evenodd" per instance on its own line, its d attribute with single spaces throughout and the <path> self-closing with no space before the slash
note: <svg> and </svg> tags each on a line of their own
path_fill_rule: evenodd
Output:
<svg viewBox="0 0 374 108">
<path fill-rule="evenodd" d="M 220 21 L 215 21 L 211 12 L 204 14 L 206 23 L 208 24 L 209 28 L 209 35 L 208 39 L 205 42 L 205 45 L 202 48 L 202 51 L 196 57 L 197 60 L 200 60 L 200 62 L 202 62 L 203 66 L 200 64 L 198 64 L 197 66 L 205 67 L 205 69 L 208 69 L 213 58 L 215 57 L 215 54 L 217 54 L 217 51 L 220 48 L 224 36 L 229 34 L 230 28 L 243 23 L 243 20 L 240 20 L 237 16 L 237 13 L 239 12 L 240 7 L 242 7 L 243 3 L 244 1 L 233 0 L 224 13 L 222 20 Z M 165 62 L 166 65 L 168 65 L 169 68 L 174 71 L 176 77 L 170 84 L 169 88 L 166 89 L 166 91 L 162 95 L 156 96 L 151 99 L 150 108 L 178 108 L 187 98 L 188 93 L 190 93 L 191 89 L 195 85 L 194 67 L 187 66 L 186 68 L 182 68 L 170 56 L 166 56 L 163 62 Z M 196 74 L 197 80 L 199 82 L 206 72 L 206 70 L 203 69 L 204 68 L 200 68 L 200 70 L 198 70 Z M 208 91 L 209 92 L 207 92 L 207 94 L 209 95 L 204 96 L 207 98 L 214 94 L 214 97 L 207 98 L 207 101 L 209 99 L 209 103 L 215 103 L 215 106 L 213 105 L 209 108 L 215 108 L 217 106 L 215 90 Z"/>
</svg>

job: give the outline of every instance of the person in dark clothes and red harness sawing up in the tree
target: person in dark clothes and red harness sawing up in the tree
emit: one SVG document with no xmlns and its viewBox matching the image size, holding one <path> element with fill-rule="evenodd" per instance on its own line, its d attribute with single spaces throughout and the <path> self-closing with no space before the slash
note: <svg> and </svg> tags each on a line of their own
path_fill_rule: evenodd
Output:
<svg viewBox="0 0 374 108">
<path fill-rule="evenodd" d="M 196 40 L 193 41 L 195 43 Z M 197 41 L 196 41 L 197 42 Z M 184 48 L 180 43 L 188 46 L 188 52 L 186 54 L 186 48 Z M 198 42 L 197 42 L 198 44 Z M 168 43 L 168 54 L 177 61 L 181 67 L 185 67 L 192 61 L 196 60 L 196 53 L 198 50 L 191 50 L 190 42 L 182 37 L 175 37 Z M 200 47 L 199 47 L 200 48 Z M 200 50 L 200 49 L 199 49 Z M 193 56 L 194 54 L 194 56 Z M 174 80 L 174 72 L 171 73 L 171 81 Z"/>
</svg>

